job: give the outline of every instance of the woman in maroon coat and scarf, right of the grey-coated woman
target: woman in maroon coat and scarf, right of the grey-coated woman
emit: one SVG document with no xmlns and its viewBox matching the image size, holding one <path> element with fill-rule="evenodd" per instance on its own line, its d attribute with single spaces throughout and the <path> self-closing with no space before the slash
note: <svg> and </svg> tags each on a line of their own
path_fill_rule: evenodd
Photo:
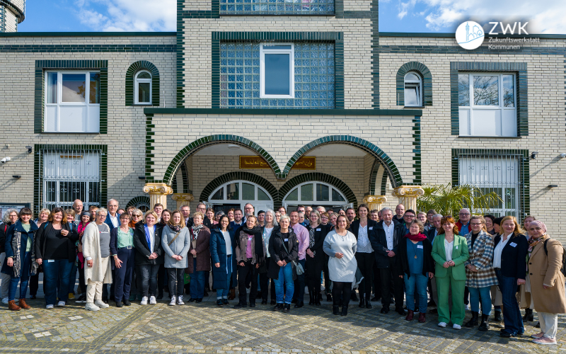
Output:
<svg viewBox="0 0 566 354">
<path fill-rule="evenodd" d="M 195 212 L 190 227 L 190 249 L 187 255 L 186 273 L 190 274 L 189 302 L 202 302 L 204 297 L 204 273 L 210 271 L 210 230 L 202 224 L 204 215 Z"/>
</svg>

